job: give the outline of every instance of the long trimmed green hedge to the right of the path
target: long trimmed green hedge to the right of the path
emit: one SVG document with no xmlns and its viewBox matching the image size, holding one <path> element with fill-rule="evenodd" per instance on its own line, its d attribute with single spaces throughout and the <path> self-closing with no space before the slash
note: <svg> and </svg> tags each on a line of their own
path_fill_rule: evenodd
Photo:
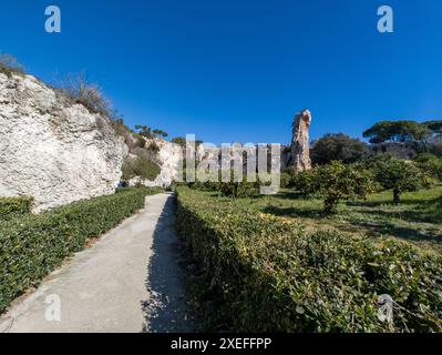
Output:
<svg viewBox="0 0 442 355">
<path fill-rule="evenodd" d="M 308 233 L 290 219 L 178 187 L 177 229 L 202 273 L 206 329 L 442 332 L 442 258 L 391 240 Z M 379 296 L 394 301 L 378 317 Z"/>
</svg>

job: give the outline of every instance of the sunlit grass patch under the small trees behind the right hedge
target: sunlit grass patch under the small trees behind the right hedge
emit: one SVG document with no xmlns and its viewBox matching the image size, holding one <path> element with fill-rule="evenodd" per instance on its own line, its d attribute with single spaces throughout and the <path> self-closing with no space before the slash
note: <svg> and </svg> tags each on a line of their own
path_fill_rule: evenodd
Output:
<svg viewBox="0 0 442 355">
<path fill-rule="evenodd" d="M 442 252 L 442 186 L 403 194 L 399 205 L 392 192 L 371 195 L 367 201 L 341 203 L 338 213 L 325 215 L 322 201 L 302 199 L 282 190 L 276 196 L 238 199 L 237 206 L 279 217 L 295 219 L 310 230 L 337 230 L 363 236 L 399 239 L 423 252 Z"/>
</svg>

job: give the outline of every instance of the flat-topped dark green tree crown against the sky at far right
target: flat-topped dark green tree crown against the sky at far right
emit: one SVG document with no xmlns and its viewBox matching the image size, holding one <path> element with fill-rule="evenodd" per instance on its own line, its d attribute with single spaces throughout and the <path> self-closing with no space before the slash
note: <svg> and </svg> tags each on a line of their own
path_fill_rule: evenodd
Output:
<svg viewBox="0 0 442 355">
<path fill-rule="evenodd" d="M 415 121 L 381 121 L 363 132 L 370 143 L 420 142 L 430 133 L 424 124 Z"/>
</svg>

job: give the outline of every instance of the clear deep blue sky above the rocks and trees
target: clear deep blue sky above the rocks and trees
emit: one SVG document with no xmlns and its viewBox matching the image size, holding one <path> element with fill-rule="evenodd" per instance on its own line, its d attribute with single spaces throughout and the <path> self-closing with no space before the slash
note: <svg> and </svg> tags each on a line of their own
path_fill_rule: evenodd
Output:
<svg viewBox="0 0 442 355">
<path fill-rule="evenodd" d="M 49 4 L 61 34 L 44 32 Z M 442 119 L 440 0 L 11 0 L 0 50 L 43 80 L 88 70 L 130 125 L 214 143 L 289 142 L 305 108 L 313 139 Z"/>
</svg>

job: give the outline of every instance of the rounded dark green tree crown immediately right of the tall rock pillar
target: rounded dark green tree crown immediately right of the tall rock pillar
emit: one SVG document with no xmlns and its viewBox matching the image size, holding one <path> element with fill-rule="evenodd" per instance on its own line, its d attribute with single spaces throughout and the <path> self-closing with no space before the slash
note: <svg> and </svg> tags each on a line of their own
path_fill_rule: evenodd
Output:
<svg viewBox="0 0 442 355">
<path fill-rule="evenodd" d="M 369 154 L 368 145 L 346 134 L 326 134 L 316 141 L 311 151 L 313 164 L 327 164 L 333 160 L 353 163 Z"/>
</svg>

